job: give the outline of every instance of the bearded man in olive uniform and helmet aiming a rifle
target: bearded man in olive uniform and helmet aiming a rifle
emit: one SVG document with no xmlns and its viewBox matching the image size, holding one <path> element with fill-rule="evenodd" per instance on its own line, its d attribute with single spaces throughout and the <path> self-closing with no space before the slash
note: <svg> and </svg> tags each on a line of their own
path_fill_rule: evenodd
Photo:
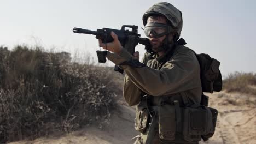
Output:
<svg viewBox="0 0 256 144">
<path fill-rule="evenodd" d="M 200 65 L 195 53 L 184 39 L 182 13 L 170 3 L 160 2 L 143 15 L 144 33 L 151 50 L 142 62 L 138 52 L 132 56 L 121 46 L 118 37 L 100 46 L 108 52 L 107 58 L 125 70 L 123 93 L 126 102 L 137 105 L 135 129 L 141 134 L 135 143 L 198 143 L 184 136 L 183 119 L 179 107 L 200 104 Z"/>
</svg>

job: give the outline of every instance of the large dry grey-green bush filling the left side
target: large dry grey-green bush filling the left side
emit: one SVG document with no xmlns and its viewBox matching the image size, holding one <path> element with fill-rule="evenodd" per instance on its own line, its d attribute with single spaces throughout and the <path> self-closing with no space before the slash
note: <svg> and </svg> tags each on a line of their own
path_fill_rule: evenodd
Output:
<svg viewBox="0 0 256 144">
<path fill-rule="evenodd" d="M 106 122 L 119 87 L 111 73 L 66 52 L 0 47 L 0 143 Z"/>
</svg>

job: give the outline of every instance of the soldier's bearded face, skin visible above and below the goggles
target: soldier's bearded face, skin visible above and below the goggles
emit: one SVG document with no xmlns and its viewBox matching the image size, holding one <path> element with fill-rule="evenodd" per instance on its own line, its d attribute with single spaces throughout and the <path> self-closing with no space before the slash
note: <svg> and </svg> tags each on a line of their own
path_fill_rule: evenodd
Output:
<svg viewBox="0 0 256 144">
<path fill-rule="evenodd" d="M 157 19 L 152 19 L 151 17 L 148 17 L 147 23 L 150 23 L 150 22 L 167 24 L 167 20 L 165 17 L 158 17 Z M 150 44 L 152 45 L 152 50 L 154 52 L 159 52 L 158 48 L 162 45 L 165 38 L 166 38 L 166 35 L 160 38 L 154 38 L 153 35 L 150 34 L 149 41 L 150 41 Z"/>
</svg>

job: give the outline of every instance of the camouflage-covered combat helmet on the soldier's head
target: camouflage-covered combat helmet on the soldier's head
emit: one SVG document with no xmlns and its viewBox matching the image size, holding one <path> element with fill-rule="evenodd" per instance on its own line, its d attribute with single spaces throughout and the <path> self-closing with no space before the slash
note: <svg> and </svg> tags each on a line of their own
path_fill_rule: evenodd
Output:
<svg viewBox="0 0 256 144">
<path fill-rule="evenodd" d="M 165 16 L 166 19 L 171 23 L 171 27 L 174 29 L 174 32 L 176 32 L 176 38 L 179 38 L 183 25 L 181 11 L 167 2 L 156 3 L 143 14 L 142 19 L 144 26 L 147 24 L 148 16 L 152 14 Z"/>
</svg>

